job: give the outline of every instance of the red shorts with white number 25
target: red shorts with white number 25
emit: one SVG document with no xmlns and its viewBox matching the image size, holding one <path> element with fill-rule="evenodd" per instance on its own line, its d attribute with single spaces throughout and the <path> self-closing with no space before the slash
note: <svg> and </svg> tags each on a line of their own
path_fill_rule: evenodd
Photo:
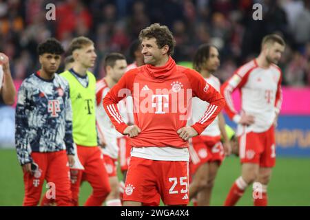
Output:
<svg viewBox="0 0 310 220">
<path fill-rule="evenodd" d="M 189 203 L 188 162 L 132 157 L 123 201 L 140 201 L 143 206 Z"/>
</svg>

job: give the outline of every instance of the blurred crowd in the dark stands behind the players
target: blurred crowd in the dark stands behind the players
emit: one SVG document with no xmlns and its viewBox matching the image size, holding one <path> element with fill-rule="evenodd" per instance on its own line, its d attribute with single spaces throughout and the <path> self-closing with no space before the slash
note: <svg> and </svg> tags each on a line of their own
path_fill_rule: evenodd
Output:
<svg viewBox="0 0 310 220">
<path fill-rule="evenodd" d="M 216 45 L 221 56 L 217 76 L 222 81 L 258 55 L 263 36 L 282 34 L 287 41 L 279 63 L 282 84 L 310 86 L 310 0 L 58 0 L 52 1 L 56 20 L 48 21 L 45 6 L 50 2 L 0 0 L 0 51 L 11 58 L 14 80 L 39 68 L 38 43 L 54 36 L 66 49 L 81 35 L 95 43 L 99 56 L 94 74 L 101 78 L 105 54 L 127 55 L 140 30 L 158 22 L 175 36 L 177 62 L 192 61 L 201 43 Z M 255 3 L 262 5 L 261 21 L 252 18 Z"/>
</svg>

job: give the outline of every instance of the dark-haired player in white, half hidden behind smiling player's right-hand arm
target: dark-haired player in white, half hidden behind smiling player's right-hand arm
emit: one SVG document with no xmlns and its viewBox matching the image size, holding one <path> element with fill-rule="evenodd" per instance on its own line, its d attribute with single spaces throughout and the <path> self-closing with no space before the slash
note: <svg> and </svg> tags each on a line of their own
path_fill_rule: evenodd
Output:
<svg viewBox="0 0 310 220">
<path fill-rule="evenodd" d="M 212 74 L 216 72 L 219 65 L 220 55 L 216 47 L 209 44 L 200 45 L 194 56 L 194 69 L 217 91 L 220 91 L 220 80 Z M 197 122 L 208 106 L 208 102 L 193 98 L 192 118 L 189 124 Z M 221 135 L 224 147 L 220 142 Z M 230 152 L 231 146 L 225 130 L 223 113 L 219 113 L 200 135 L 189 140 L 190 172 L 193 175 L 189 187 L 189 199 L 196 197 L 198 206 L 209 206 L 216 173 L 225 154 L 229 155 Z"/>
</svg>

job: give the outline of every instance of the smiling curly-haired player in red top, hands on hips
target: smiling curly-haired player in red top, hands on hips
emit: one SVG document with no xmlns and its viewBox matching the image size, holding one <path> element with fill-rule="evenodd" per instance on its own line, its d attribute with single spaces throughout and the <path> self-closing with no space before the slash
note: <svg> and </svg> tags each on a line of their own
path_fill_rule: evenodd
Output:
<svg viewBox="0 0 310 220">
<path fill-rule="evenodd" d="M 103 100 L 120 133 L 131 137 L 124 206 L 168 206 L 189 202 L 188 140 L 201 133 L 225 105 L 224 98 L 193 69 L 176 65 L 174 37 L 167 26 L 154 23 L 139 39 L 146 65 L 126 72 Z M 131 94 L 134 125 L 123 122 L 117 103 Z M 193 96 L 209 102 L 203 117 L 186 126 Z"/>
</svg>

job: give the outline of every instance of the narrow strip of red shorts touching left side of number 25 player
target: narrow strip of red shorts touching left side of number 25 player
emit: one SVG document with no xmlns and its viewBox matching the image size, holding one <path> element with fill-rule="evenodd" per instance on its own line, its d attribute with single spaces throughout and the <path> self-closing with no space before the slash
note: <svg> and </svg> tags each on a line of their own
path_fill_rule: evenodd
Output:
<svg viewBox="0 0 310 220">
<path fill-rule="evenodd" d="M 127 136 L 118 137 L 117 145 L 119 147 L 119 162 L 121 163 L 121 171 L 125 172 L 128 170 L 130 163 L 130 151 L 132 146 L 130 146 L 130 138 Z"/>
</svg>

